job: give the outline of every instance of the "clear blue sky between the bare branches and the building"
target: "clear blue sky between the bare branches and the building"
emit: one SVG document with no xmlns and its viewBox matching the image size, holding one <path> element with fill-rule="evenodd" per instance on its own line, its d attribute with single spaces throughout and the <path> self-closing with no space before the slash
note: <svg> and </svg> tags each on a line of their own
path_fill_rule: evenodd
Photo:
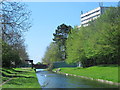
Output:
<svg viewBox="0 0 120 90">
<path fill-rule="evenodd" d="M 61 24 L 80 25 L 80 13 L 99 6 L 99 2 L 25 2 L 31 10 L 32 27 L 25 34 L 29 59 L 42 62 L 46 47 L 53 41 L 53 33 Z M 103 2 L 103 6 L 116 6 L 117 2 Z"/>
</svg>

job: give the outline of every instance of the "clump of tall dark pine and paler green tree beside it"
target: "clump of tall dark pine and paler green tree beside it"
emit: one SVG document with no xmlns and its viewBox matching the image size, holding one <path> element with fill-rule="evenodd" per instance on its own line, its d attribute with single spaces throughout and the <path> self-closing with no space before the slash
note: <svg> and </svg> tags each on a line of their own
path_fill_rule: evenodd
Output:
<svg viewBox="0 0 120 90">
<path fill-rule="evenodd" d="M 71 26 L 61 24 L 55 30 L 54 39 L 47 47 L 45 55 L 42 59 L 43 63 L 49 64 L 49 68 L 53 68 L 53 62 L 62 61 L 66 58 L 66 40 L 70 33 Z"/>
</svg>

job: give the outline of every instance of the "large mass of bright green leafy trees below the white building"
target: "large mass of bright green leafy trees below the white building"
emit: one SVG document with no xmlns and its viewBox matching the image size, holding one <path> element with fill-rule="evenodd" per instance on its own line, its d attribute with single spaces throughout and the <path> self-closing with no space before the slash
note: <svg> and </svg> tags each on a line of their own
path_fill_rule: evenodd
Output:
<svg viewBox="0 0 120 90">
<path fill-rule="evenodd" d="M 87 27 L 72 29 L 66 41 L 68 63 L 83 67 L 117 64 L 120 49 L 120 7 L 111 7 Z"/>
</svg>

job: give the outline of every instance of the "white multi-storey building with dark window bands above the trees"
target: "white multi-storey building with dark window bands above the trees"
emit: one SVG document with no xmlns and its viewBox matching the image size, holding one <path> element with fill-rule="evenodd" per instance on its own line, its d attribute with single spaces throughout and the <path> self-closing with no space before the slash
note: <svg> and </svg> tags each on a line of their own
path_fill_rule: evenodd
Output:
<svg viewBox="0 0 120 90">
<path fill-rule="evenodd" d="M 104 11 L 109 7 L 98 7 L 87 13 L 81 14 L 81 25 L 80 26 L 88 26 L 91 20 L 97 19 Z M 78 27 L 80 27 L 78 26 Z"/>
</svg>

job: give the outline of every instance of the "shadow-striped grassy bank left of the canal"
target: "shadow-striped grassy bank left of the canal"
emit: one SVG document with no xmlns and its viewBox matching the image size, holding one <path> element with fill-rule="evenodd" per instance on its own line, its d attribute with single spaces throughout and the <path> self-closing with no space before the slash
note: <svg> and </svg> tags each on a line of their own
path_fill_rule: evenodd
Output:
<svg viewBox="0 0 120 90">
<path fill-rule="evenodd" d="M 2 88 L 40 88 L 35 71 L 31 68 L 0 69 L 2 82 L 9 80 Z"/>
</svg>

